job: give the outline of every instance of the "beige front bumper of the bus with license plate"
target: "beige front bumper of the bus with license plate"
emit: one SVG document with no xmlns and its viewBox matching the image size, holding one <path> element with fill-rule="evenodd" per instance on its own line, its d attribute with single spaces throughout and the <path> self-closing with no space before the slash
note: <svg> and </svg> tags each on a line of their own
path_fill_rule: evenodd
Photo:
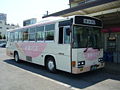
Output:
<svg viewBox="0 0 120 90">
<path fill-rule="evenodd" d="M 100 63 L 98 65 L 92 65 L 92 66 L 88 66 L 88 67 L 72 67 L 72 73 L 73 74 L 80 74 L 80 73 L 84 73 L 84 72 L 88 72 L 88 71 L 93 71 L 93 70 L 97 70 L 100 68 L 103 68 L 105 66 L 105 63 Z"/>
</svg>

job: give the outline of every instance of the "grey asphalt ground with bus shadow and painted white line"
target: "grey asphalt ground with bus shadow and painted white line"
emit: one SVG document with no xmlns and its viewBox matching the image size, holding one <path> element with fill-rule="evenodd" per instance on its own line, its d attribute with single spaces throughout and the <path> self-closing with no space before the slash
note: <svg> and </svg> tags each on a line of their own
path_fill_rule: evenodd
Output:
<svg viewBox="0 0 120 90">
<path fill-rule="evenodd" d="M 0 90 L 120 90 L 120 75 L 104 70 L 72 75 L 48 72 L 44 67 L 16 63 L 0 48 Z"/>
</svg>

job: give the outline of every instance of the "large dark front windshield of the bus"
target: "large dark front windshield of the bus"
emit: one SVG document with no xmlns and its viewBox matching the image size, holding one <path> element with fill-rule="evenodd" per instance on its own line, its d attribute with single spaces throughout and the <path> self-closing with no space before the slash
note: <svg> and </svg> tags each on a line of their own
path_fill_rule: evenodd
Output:
<svg viewBox="0 0 120 90">
<path fill-rule="evenodd" d="M 73 48 L 102 48 L 100 28 L 75 25 L 73 27 Z"/>
</svg>

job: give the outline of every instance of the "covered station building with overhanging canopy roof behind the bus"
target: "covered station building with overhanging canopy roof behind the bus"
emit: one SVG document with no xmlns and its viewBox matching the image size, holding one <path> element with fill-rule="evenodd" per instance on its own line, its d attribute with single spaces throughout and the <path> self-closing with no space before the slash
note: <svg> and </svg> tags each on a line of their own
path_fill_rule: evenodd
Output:
<svg viewBox="0 0 120 90">
<path fill-rule="evenodd" d="M 103 21 L 104 59 L 120 63 L 120 0 L 69 0 L 69 9 L 50 16 L 87 15 Z"/>
</svg>

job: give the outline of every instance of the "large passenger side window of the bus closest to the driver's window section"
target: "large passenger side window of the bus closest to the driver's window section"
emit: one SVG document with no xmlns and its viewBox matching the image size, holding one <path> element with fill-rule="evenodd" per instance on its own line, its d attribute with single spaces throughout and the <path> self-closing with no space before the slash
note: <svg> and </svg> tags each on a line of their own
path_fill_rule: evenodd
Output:
<svg viewBox="0 0 120 90">
<path fill-rule="evenodd" d="M 55 24 L 45 26 L 45 40 L 54 40 Z"/>
</svg>

